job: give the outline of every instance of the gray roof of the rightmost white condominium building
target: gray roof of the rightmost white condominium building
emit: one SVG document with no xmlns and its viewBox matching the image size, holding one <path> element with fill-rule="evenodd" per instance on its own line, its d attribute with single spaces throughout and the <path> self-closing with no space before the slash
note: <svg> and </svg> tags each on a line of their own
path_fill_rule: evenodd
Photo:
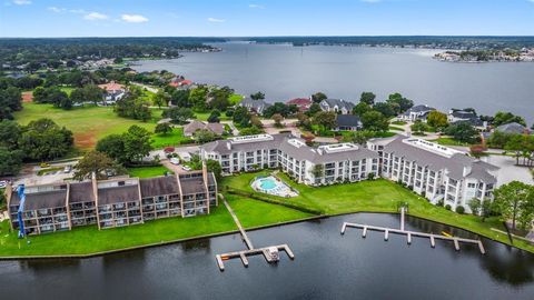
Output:
<svg viewBox="0 0 534 300">
<path fill-rule="evenodd" d="M 403 142 L 404 136 L 398 136 L 384 146 L 384 152 L 403 157 L 407 161 L 414 161 L 422 167 L 428 167 L 433 171 L 447 170 L 447 176 L 453 179 L 474 178 L 486 183 L 495 183 L 496 177 L 490 171 L 498 170 L 497 167 L 479 161 L 467 154 L 455 153 L 451 157 L 442 156 L 429 150 L 417 148 Z M 464 177 L 465 170 L 471 170 Z"/>
</svg>

